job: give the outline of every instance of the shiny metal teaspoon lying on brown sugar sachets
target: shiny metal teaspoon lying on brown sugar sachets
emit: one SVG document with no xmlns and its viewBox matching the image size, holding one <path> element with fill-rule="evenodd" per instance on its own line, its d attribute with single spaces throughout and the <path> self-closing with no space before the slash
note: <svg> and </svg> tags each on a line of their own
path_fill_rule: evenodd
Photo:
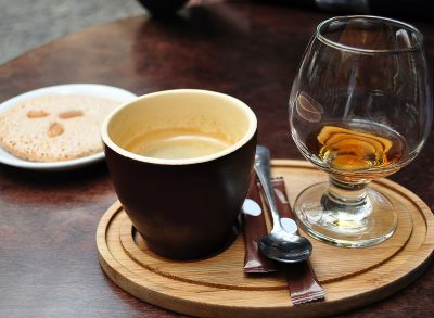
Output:
<svg viewBox="0 0 434 318">
<path fill-rule="evenodd" d="M 272 216 L 272 230 L 259 241 L 259 251 L 268 258 L 283 263 L 298 263 L 307 259 L 311 252 L 311 243 L 304 237 L 286 231 L 281 224 L 279 209 L 270 181 L 270 152 L 263 145 L 256 147 L 255 171 L 263 185 L 265 196 Z"/>
</svg>

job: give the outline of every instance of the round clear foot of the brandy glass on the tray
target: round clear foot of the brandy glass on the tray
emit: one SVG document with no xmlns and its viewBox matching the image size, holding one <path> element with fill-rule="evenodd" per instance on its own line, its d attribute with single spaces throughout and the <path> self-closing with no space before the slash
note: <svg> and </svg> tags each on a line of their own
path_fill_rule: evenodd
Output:
<svg viewBox="0 0 434 318">
<path fill-rule="evenodd" d="M 328 190 L 328 182 L 317 183 L 305 189 L 295 201 L 298 226 L 315 239 L 337 246 L 366 247 L 395 232 L 397 214 L 383 194 L 368 187 L 365 204 L 348 206 L 332 202 Z"/>
</svg>

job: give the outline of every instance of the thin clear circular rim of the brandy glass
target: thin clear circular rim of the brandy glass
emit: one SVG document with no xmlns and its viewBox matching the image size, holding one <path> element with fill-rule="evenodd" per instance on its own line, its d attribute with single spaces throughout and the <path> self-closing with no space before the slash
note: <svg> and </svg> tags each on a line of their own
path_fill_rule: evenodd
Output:
<svg viewBox="0 0 434 318">
<path fill-rule="evenodd" d="M 362 49 L 362 48 L 357 48 L 357 47 L 352 47 L 352 46 L 346 46 L 342 44 L 337 41 L 331 40 L 327 36 L 323 35 L 323 28 L 328 25 L 330 25 L 333 22 L 336 21 L 348 21 L 348 20 L 357 20 L 357 18 L 366 18 L 366 20 L 371 20 L 371 21 L 381 21 L 384 23 L 390 23 L 390 24 L 395 24 L 399 25 L 403 28 L 406 28 L 407 30 L 411 30 L 413 34 L 417 35 L 417 43 L 409 47 L 409 48 L 404 48 L 404 49 L 384 49 L 384 50 L 373 50 L 373 49 Z M 333 16 L 331 18 L 324 20 L 321 23 L 318 24 L 315 33 L 315 37 L 317 37 L 321 42 L 323 42 L 327 46 L 330 46 L 332 48 L 343 50 L 343 51 L 348 51 L 348 52 L 356 52 L 356 53 L 365 53 L 365 54 L 391 54 L 391 53 L 405 53 L 405 52 L 413 52 L 417 50 L 420 50 L 423 48 L 423 35 L 422 33 L 416 28 L 413 25 L 405 23 L 395 18 L 390 18 L 390 17 L 384 17 L 384 16 L 378 16 L 378 15 L 340 15 L 340 16 Z"/>
</svg>

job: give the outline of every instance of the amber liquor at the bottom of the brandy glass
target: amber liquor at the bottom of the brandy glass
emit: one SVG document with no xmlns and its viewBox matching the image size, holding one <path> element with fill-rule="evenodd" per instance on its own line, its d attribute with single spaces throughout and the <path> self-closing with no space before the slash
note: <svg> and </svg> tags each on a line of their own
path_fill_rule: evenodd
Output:
<svg viewBox="0 0 434 318">
<path fill-rule="evenodd" d="M 376 178 L 399 169 L 406 155 L 404 138 L 372 122 L 326 124 L 307 139 L 309 151 L 322 168 L 355 178 Z"/>
</svg>

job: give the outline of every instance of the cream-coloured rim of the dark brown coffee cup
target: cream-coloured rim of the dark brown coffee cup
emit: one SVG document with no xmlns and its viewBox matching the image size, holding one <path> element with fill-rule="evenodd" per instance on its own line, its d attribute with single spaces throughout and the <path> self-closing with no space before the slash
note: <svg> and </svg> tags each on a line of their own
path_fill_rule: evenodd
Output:
<svg viewBox="0 0 434 318">
<path fill-rule="evenodd" d="M 125 150 L 117 145 L 108 136 L 108 125 L 112 120 L 112 118 L 122 110 L 127 107 L 130 104 L 137 103 L 140 100 L 157 97 L 157 96 L 167 96 L 167 94 L 203 94 L 206 93 L 208 96 L 214 96 L 214 97 L 222 97 L 225 99 L 228 99 L 233 105 L 235 105 L 239 109 L 242 109 L 245 114 L 247 115 L 248 118 L 248 128 L 246 133 L 241 138 L 239 141 L 233 143 L 232 145 L 226 148 L 222 151 L 205 155 L 205 156 L 200 156 L 200 157 L 192 157 L 192 158 L 158 158 L 158 157 L 151 157 L 151 156 L 143 156 L 136 154 L 133 152 L 130 152 L 128 150 Z M 105 118 L 101 127 L 101 138 L 105 147 L 111 148 L 113 151 L 116 153 L 129 157 L 135 161 L 143 162 L 143 163 L 151 163 L 151 164 L 161 164 L 161 165 L 190 165 L 190 164 L 200 164 L 200 163 L 205 163 L 209 161 L 217 160 L 219 157 L 222 157 L 225 155 L 228 155 L 238 149 L 240 149 L 242 145 L 247 143 L 256 133 L 257 130 L 257 118 L 255 113 L 252 111 L 247 104 L 242 102 L 241 100 L 231 97 L 226 93 L 217 92 L 217 91 L 212 91 L 212 90 L 204 90 L 204 89 L 170 89 L 170 90 L 162 90 L 162 91 L 156 91 L 156 92 L 151 92 L 151 93 L 145 93 L 143 96 L 138 97 L 137 99 L 125 102 L 117 106 L 115 110 L 113 110 Z"/>
</svg>

